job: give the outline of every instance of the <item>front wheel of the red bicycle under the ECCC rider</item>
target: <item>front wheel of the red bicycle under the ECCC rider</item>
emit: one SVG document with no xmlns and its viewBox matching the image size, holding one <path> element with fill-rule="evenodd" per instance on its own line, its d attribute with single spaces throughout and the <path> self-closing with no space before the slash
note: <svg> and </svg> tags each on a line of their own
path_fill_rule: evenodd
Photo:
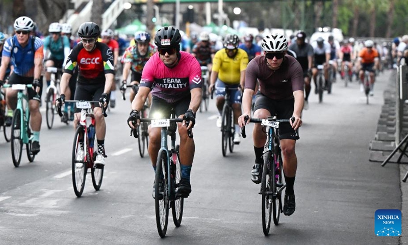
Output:
<svg viewBox="0 0 408 245">
<path fill-rule="evenodd" d="M 88 166 L 85 162 L 85 151 L 81 150 L 80 146 L 80 141 L 83 141 L 84 137 L 86 137 L 84 128 L 80 126 L 75 130 L 72 145 L 72 185 L 73 191 L 77 197 L 81 197 L 82 192 L 84 191 L 86 174 L 88 171 Z"/>
</svg>

